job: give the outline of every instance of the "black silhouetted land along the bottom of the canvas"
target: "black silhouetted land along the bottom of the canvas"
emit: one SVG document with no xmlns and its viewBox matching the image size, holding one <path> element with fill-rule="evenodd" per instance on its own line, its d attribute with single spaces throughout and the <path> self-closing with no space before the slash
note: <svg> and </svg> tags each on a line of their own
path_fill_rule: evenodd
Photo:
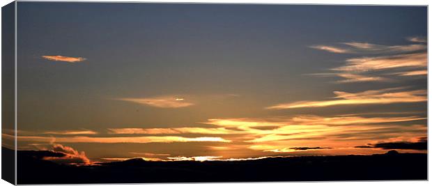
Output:
<svg viewBox="0 0 432 186">
<path fill-rule="evenodd" d="M 271 157 L 236 162 L 146 162 L 70 166 L 42 160 L 50 151 L 18 151 L 18 184 L 180 183 L 323 180 L 426 180 L 427 155 L 387 153 Z M 52 156 L 52 155 L 49 155 Z"/>
</svg>

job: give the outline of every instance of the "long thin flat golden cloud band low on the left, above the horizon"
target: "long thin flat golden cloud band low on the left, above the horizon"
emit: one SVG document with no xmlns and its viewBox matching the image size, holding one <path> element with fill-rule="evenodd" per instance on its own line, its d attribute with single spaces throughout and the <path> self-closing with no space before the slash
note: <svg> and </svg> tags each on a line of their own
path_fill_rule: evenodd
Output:
<svg viewBox="0 0 432 186">
<path fill-rule="evenodd" d="M 147 144 L 147 143 L 172 143 L 172 142 L 194 142 L 194 141 L 214 141 L 231 142 L 221 137 L 18 137 L 19 141 L 40 141 L 49 142 L 55 140 L 59 143 L 101 143 L 101 144 Z"/>
</svg>

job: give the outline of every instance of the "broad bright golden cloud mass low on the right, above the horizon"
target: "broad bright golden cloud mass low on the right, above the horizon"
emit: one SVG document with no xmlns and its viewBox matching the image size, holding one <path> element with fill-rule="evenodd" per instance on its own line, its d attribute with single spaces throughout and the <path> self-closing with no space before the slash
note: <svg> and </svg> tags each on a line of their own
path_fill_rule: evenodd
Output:
<svg viewBox="0 0 432 186">
<path fill-rule="evenodd" d="M 426 129 L 422 125 L 409 125 L 408 127 L 399 126 L 399 122 L 420 121 L 426 118 L 418 116 L 406 117 L 372 117 L 361 116 L 334 116 L 323 117 L 313 115 L 300 115 L 292 118 L 270 118 L 268 120 L 257 120 L 254 118 L 238 119 L 212 119 L 208 124 L 224 125 L 229 128 L 235 127 L 239 130 L 233 140 L 242 140 L 247 143 L 259 143 L 261 148 L 268 142 L 280 142 L 277 146 L 267 146 L 262 150 L 275 150 L 285 148 L 284 141 L 322 141 L 322 139 L 332 140 L 356 140 L 352 137 L 376 137 L 373 132 L 380 137 L 394 137 L 400 131 L 424 132 Z M 233 121 L 233 123 L 231 123 Z M 241 121 L 239 123 L 239 121 Z M 274 125 L 276 128 L 260 130 L 255 126 Z M 396 124 L 393 124 L 396 123 Z M 368 125 L 373 124 L 373 125 Z M 414 134 L 413 133 L 413 134 Z M 388 136 L 387 136 L 388 134 Z M 415 133 L 417 134 L 417 133 Z M 295 144 L 294 144 L 295 145 Z M 259 146 L 253 145 L 254 150 Z M 324 145 L 327 146 L 327 145 Z M 222 148 L 224 149 L 224 148 Z M 220 150 L 220 149 L 218 149 Z"/>
</svg>

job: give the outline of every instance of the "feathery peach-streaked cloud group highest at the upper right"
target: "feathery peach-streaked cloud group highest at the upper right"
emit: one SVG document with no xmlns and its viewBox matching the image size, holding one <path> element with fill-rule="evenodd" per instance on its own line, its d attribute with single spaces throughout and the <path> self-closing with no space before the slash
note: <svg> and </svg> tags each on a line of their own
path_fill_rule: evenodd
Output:
<svg viewBox="0 0 432 186">
<path fill-rule="evenodd" d="M 337 83 L 355 82 L 385 82 L 392 80 L 385 77 L 383 70 L 399 70 L 399 76 L 424 75 L 427 65 L 426 40 L 420 37 L 407 38 L 411 45 L 376 45 L 369 42 L 341 42 L 338 45 L 314 45 L 314 49 L 321 49 L 332 53 L 360 54 L 361 57 L 346 59 L 346 63 L 337 68 L 329 69 L 331 73 L 315 75 L 337 76 L 344 79 Z M 364 56 L 374 54 L 374 56 Z M 379 54 L 377 56 L 376 54 Z M 415 71 L 413 71 L 415 70 Z M 375 72 L 375 75 L 371 75 Z M 410 73 L 411 72 L 411 73 Z M 377 75 L 378 74 L 378 75 Z"/>
</svg>

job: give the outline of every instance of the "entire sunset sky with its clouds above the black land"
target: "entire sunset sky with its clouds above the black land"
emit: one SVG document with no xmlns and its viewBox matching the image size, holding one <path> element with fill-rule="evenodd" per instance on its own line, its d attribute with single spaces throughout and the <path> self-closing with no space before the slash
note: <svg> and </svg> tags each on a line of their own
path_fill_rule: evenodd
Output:
<svg viewBox="0 0 432 186">
<path fill-rule="evenodd" d="M 18 2 L 18 149 L 71 163 L 425 153 L 426 15 Z"/>
</svg>

